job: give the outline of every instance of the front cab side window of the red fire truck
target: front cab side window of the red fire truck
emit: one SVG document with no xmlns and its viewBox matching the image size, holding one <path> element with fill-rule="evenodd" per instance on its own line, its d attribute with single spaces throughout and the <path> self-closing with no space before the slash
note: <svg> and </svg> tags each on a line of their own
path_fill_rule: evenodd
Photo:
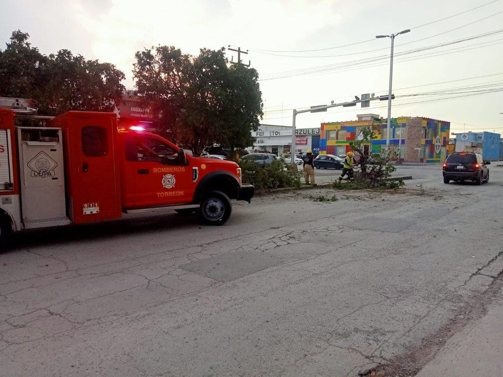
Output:
<svg viewBox="0 0 503 377">
<path fill-rule="evenodd" d="M 162 141 L 142 136 L 134 139 L 135 153 L 128 153 L 128 161 L 157 162 L 163 165 L 178 165 L 178 152 Z"/>
</svg>

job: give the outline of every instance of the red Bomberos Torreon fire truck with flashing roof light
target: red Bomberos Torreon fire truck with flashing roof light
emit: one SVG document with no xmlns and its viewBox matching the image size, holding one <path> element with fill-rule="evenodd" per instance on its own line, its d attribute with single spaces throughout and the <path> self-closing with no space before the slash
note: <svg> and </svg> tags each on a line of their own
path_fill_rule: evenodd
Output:
<svg viewBox="0 0 503 377">
<path fill-rule="evenodd" d="M 254 195 L 235 162 L 189 156 L 139 126 L 118 129 L 115 113 L 70 111 L 21 127 L 16 119 L 30 117 L 22 103 L 0 102 L 0 242 L 24 229 L 169 210 L 222 225 L 231 201 Z"/>
</svg>

